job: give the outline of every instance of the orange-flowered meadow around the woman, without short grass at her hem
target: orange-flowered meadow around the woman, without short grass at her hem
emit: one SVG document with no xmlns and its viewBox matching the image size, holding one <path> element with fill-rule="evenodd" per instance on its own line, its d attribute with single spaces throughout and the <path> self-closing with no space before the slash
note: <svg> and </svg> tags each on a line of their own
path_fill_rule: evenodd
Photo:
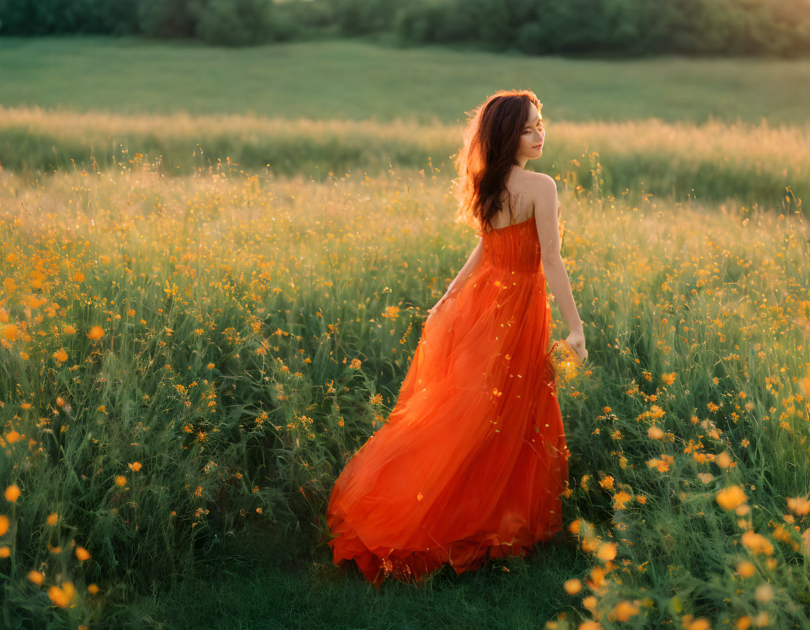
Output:
<svg viewBox="0 0 810 630">
<path fill-rule="evenodd" d="M 561 198 L 595 359 L 560 363 L 565 523 L 592 566 L 561 560 L 549 590 L 534 563 L 505 565 L 537 575 L 522 588 L 556 593 L 532 625 L 517 607 L 507 627 L 586 594 L 604 628 L 636 608 L 643 623 L 765 614 L 803 627 L 806 223 Z M 305 559 L 316 593 L 357 581 L 330 571 L 322 513 L 474 245 L 445 186 L 420 172 L 313 182 L 142 165 L 28 186 L 4 172 L 0 202 L 2 479 L 21 492 L 6 502 L 6 601 L 45 615 L 46 587 L 69 580 L 75 628 L 237 541 Z M 736 513 L 718 503 L 727 487 L 744 493 Z M 578 579 L 585 592 L 561 591 Z M 394 592 L 403 607 L 425 597 Z"/>
</svg>

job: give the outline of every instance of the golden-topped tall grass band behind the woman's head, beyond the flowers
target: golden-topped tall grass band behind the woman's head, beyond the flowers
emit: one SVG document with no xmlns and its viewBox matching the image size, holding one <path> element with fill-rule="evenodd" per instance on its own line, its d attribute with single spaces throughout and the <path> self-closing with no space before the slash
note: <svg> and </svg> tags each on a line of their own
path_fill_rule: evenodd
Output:
<svg viewBox="0 0 810 630">
<path fill-rule="evenodd" d="M 3 168 L 36 177 L 64 168 L 115 172 L 151 163 L 189 175 L 224 168 L 322 181 L 329 172 L 423 168 L 449 179 L 463 126 L 396 121 L 296 121 L 246 115 L 193 117 L 70 113 L 0 107 Z M 710 121 L 548 121 L 544 155 L 530 168 L 573 187 L 639 199 L 765 206 L 787 212 L 810 193 L 810 125 Z"/>
</svg>

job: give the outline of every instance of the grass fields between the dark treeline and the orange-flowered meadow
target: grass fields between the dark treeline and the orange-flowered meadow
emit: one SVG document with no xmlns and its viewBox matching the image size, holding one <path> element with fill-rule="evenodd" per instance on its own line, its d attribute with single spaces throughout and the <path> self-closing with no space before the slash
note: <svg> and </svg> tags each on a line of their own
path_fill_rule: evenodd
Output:
<svg viewBox="0 0 810 630">
<path fill-rule="evenodd" d="M 465 111 L 499 88 L 531 87 L 548 138 L 529 168 L 565 185 L 601 177 L 603 194 L 635 202 L 731 198 L 778 211 L 810 185 L 810 60 L 131 37 L 8 38 L 0 54 L 0 161 L 17 172 L 114 171 L 141 153 L 175 175 L 230 160 L 262 177 L 268 165 L 317 181 L 391 165 L 453 177 Z"/>
</svg>

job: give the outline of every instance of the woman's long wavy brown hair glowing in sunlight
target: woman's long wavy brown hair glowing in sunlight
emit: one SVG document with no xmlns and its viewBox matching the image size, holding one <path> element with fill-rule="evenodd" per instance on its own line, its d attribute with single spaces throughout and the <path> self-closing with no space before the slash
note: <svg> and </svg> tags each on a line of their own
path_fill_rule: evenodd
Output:
<svg viewBox="0 0 810 630">
<path fill-rule="evenodd" d="M 458 199 L 457 221 L 478 230 L 492 229 L 493 216 L 501 211 L 501 194 L 514 164 L 520 134 L 534 103 L 543 107 L 531 90 L 499 90 L 476 107 L 467 118 L 464 143 L 455 160 L 453 180 Z M 512 215 L 509 199 L 509 215 Z"/>
</svg>

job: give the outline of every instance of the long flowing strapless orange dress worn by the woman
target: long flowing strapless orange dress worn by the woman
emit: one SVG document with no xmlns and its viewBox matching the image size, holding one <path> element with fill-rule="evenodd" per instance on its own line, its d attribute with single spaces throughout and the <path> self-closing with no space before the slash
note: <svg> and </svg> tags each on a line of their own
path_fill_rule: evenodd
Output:
<svg viewBox="0 0 810 630">
<path fill-rule="evenodd" d="M 570 453 L 535 219 L 479 233 L 480 265 L 424 321 L 394 410 L 330 495 L 334 562 L 377 589 L 527 556 L 562 530 Z"/>
</svg>

